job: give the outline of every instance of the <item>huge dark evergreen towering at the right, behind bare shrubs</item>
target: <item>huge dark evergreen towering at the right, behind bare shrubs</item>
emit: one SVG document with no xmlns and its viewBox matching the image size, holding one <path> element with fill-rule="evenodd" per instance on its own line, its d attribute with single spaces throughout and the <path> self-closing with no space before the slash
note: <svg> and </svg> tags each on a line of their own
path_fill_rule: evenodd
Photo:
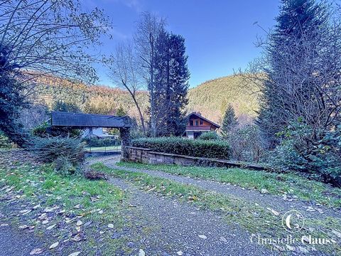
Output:
<svg viewBox="0 0 341 256">
<path fill-rule="evenodd" d="M 272 145 L 276 144 L 275 134 L 290 122 L 299 117 L 310 119 L 306 122 L 320 118 L 313 108 L 324 104 L 323 99 L 318 99 L 315 85 L 328 15 L 323 2 L 282 0 L 276 21 L 269 43 L 264 46 L 266 57 L 260 72 L 266 74 L 266 79 L 257 120 L 264 138 Z M 318 37 L 322 40 L 316 40 Z M 311 109 L 307 110 L 303 106 L 309 102 Z"/>
</svg>

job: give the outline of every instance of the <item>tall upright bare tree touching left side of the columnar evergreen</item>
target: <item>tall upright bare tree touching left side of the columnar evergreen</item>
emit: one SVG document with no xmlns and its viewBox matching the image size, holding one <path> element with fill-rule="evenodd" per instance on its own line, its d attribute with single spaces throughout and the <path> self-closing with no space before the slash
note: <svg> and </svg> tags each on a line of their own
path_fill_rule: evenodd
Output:
<svg viewBox="0 0 341 256">
<path fill-rule="evenodd" d="M 150 123 L 151 135 L 156 137 L 156 110 L 155 110 L 155 57 L 156 38 L 161 29 L 166 25 L 166 20 L 156 15 L 145 12 L 137 24 L 134 36 L 136 49 L 139 55 L 139 63 L 144 70 L 143 78 L 148 85 L 150 93 Z"/>
</svg>

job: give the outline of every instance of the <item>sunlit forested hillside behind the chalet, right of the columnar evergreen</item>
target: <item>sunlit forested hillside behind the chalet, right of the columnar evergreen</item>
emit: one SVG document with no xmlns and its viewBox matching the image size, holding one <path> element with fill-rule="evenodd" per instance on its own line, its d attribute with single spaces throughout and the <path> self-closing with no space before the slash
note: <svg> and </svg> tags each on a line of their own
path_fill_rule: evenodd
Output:
<svg viewBox="0 0 341 256">
<path fill-rule="evenodd" d="M 229 75 L 203 82 L 188 92 L 188 112 L 197 111 L 202 116 L 221 124 L 224 111 L 229 103 L 239 117 L 239 121 L 250 122 L 256 117 L 258 104 L 256 95 L 252 95 L 243 84 L 239 75 Z"/>
</svg>

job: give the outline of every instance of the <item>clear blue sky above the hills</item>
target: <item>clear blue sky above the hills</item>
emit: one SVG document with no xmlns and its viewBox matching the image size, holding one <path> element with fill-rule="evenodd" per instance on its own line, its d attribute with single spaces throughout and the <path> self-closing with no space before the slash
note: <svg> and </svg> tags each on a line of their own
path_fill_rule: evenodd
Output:
<svg viewBox="0 0 341 256">
<path fill-rule="evenodd" d="M 104 9 L 113 23 L 113 38 L 104 38 L 101 52 L 129 41 L 143 11 L 165 17 L 168 31 L 185 38 L 190 87 L 232 75 L 260 55 L 257 36 L 274 26 L 278 0 L 82 0 L 86 8 Z M 261 28 L 257 25 L 261 26 Z M 263 31 L 263 29 L 265 31 Z M 114 86 L 105 68 L 97 68 L 100 85 Z"/>
</svg>

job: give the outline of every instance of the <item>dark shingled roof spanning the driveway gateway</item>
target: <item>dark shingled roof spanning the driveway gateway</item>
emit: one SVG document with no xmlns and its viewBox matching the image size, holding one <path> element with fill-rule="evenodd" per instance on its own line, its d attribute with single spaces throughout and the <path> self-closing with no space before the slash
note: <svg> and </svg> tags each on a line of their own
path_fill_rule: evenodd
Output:
<svg viewBox="0 0 341 256">
<path fill-rule="evenodd" d="M 130 127 L 127 117 L 105 114 L 83 114 L 71 112 L 52 112 L 53 127 Z"/>
</svg>

